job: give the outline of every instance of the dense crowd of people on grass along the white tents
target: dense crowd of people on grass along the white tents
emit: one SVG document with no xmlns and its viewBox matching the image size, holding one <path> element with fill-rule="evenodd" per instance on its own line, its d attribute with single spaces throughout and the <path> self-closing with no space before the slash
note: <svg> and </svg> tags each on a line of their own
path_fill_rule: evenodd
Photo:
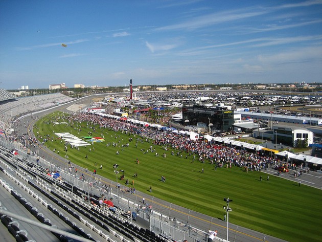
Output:
<svg viewBox="0 0 322 242">
<path fill-rule="evenodd" d="M 183 159 L 198 159 L 200 162 L 210 162 L 216 166 L 231 167 L 232 164 L 249 167 L 251 170 L 266 169 L 269 164 L 279 165 L 283 161 L 265 153 L 248 150 L 225 144 L 208 142 L 205 139 L 191 140 L 186 135 L 173 133 L 170 130 L 159 130 L 153 127 L 142 127 L 127 121 L 105 118 L 98 115 L 79 113 L 66 116 L 67 123 L 74 129 L 81 129 L 82 122 L 87 128 L 92 128 L 96 132 L 96 125 L 100 128 L 110 128 L 113 131 L 122 131 L 131 134 L 139 134 L 137 140 L 144 141 L 146 138 L 153 140 L 154 145 L 160 145 L 164 150 L 172 148 L 171 155 L 177 155 Z M 142 137 L 146 137 L 143 138 Z M 147 141 L 147 140 L 146 140 Z M 149 149 L 150 150 L 150 149 Z M 153 149 L 150 150 L 153 152 Z M 156 156 L 158 154 L 156 153 Z M 164 156 L 166 157 L 166 156 Z"/>
</svg>

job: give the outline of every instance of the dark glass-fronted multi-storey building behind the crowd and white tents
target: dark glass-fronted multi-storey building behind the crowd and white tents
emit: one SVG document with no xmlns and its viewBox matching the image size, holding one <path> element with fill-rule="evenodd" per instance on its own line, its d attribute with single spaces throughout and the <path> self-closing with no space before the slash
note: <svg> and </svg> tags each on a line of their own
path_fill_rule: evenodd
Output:
<svg viewBox="0 0 322 242">
<path fill-rule="evenodd" d="M 212 130 L 232 130 L 234 111 L 226 106 L 182 107 L 182 122 L 193 126 L 211 126 Z"/>
</svg>

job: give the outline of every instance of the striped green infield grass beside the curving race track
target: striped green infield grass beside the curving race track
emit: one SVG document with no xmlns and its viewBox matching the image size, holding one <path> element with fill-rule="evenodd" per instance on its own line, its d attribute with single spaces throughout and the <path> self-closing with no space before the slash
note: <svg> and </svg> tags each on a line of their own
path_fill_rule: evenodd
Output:
<svg viewBox="0 0 322 242">
<path fill-rule="evenodd" d="M 39 136 L 50 135 L 53 141 L 45 145 L 51 150 L 56 148 L 64 156 L 64 144 L 60 143 L 55 133 L 69 132 L 77 137 L 88 136 L 86 123 L 81 123 L 81 131 L 71 124 L 54 124 L 60 121 L 62 113 L 56 112 L 40 119 L 34 126 L 34 134 Z M 75 125 L 75 124 L 74 124 Z M 90 124 L 88 126 L 91 126 Z M 119 164 L 118 169 L 125 170 L 125 180 L 130 184 L 134 180 L 135 189 L 147 192 L 152 187 L 153 196 L 168 202 L 192 209 L 194 211 L 212 216 L 223 217 L 223 197 L 234 200 L 231 204 L 233 212 L 229 214 L 229 222 L 271 236 L 288 241 L 321 241 L 319 229 L 322 225 L 322 191 L 309 186 L 298 186 L 297 182 L 289 181 L 258 171 L 248 171 L 241 167 L 217 168 L 209 162 L 205 164 L 192 156 L 182 153 L 182 158 L 176 155 L 176 150 L 165 151 L 162 147 L 153 145 L 155 152 L 144 153 L 152 145 L 151 140 L 145 141 L 136 135 L 126 135 L 109 129 L 96 127 L 96 133 L 91 136 L 104 135 L 105 141 L 94 143 L 86 147 L 68 147 L 68 157 L 72 163 L 88 168 L 89 171 L 97 169 L 97 173 L 112 181 L 116 180 L 113 164 Z M 129 142 L 129 138 L 133 138 Z M 141 142 L 140 140 L 143 140 Z M 42 140 L 40 140 L 42 141 Z M 106 144 L 110 142 L 110 146 Z M 112 146 L 117 143 L 116 147 Z M 122 148 L 122 144 L 129 143 L 129 147 Z M 137 143 L 137 148 L 135 147 Z M 120 147 L 118 147 L 120 144 Z M 89 151 L 91 147 L 91 151 Z M 95 150 L 93 150 L 93 147 Z M 144 150 L 144 151 L 143 151 Z M 174 151 L 174 156 L 171 151 Z M 116 155 L 119 151 L 120 155 Z M 162 157 L 166 152 L 167 158 Z M 85 159 L 87 155 L 88 159 Z M 186 159 L 188 155 L 188 159 Z M 139 159 L 140 164 L 135 161 Z M 97 163 L 95 167 L 94 164 Z M 103 169 L 99 166 L 103 165 Z M 204 168 L 204 173 L 201 172 Z M 138 178 L 133 178 L 134 173 Z M 161 182 L 161 176 L 166 182 Z M 263 180 L 260 182 L 260 176 Z M 290 174 L 286 174 L 291 177 Z M 120 184 L 125 185 L 125 180 Z"/>
</svg>

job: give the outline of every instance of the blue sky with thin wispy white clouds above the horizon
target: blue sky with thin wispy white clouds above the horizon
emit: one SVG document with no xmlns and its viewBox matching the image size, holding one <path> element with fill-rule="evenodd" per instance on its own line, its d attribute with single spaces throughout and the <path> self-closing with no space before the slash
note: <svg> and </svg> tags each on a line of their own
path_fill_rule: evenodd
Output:
<svg viewBox="0 0 322 242">
<path fill-rule="evenodd" d="M 0 1 L 0 88 L 131 78 L 322 82 L 322 0 Z"/>
</svg>

